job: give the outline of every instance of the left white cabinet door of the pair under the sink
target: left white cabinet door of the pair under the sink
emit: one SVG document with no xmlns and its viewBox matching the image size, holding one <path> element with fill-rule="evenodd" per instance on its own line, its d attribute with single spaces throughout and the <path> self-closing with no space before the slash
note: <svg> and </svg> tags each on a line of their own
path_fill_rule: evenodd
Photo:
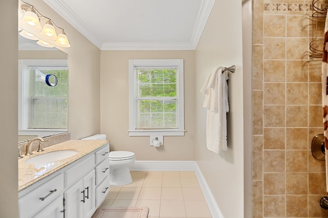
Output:
<svg viewBox="0 0 328 218">
<path fill-rule="evenodd" d="M 64 192 L 65 198 L 65 217 L 78 218 L 83 215 L 83 181 L 77 181 L 72 187 Z"/>
</svg>

